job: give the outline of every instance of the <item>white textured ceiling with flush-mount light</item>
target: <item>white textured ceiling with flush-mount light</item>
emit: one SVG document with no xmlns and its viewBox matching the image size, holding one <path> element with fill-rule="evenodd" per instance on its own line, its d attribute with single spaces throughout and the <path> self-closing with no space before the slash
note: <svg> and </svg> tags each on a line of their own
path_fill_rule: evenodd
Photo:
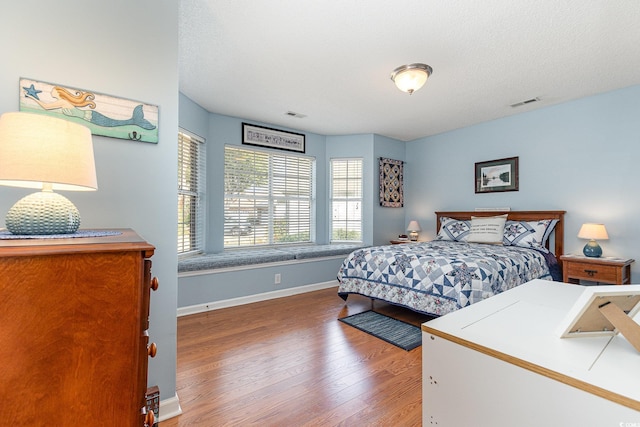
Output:
<svg viewBox="0 0 640 427">
<path fill-rule="evenodd" d="M 180 0 L 180 15 L 182 93 L 323 135 L 409 141 L 640 84 L 638 0 Z M 434 72 L 409 95 L 389 76 L 413 62 Z"/>
</svg>

